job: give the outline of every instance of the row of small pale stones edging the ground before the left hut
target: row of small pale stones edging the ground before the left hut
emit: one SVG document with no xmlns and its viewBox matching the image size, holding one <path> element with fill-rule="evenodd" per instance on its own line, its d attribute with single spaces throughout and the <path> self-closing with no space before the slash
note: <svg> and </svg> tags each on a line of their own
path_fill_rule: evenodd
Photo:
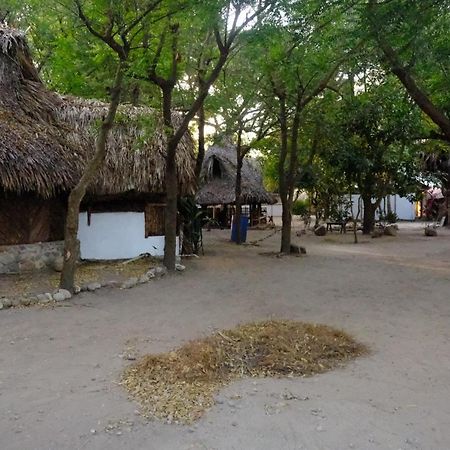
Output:
<svg viewBox="0 0 450 450">
<path fill-rule="evenodd" d="M 175 269 L 178 272 L 183 272 L 186 267 L 182 264 L 176 264 Z M 154 278 L 161 278 L 166 275 L 167 269 L 164 266 L 153 267 L 148 270 L 146 273 L 138 277 L 132 277 L 125 280 L 123 283 L 119 283 L 117 281 L 107 281 L 106 283 L 89 283 L 83 286 L 75 286 L 74 294 L 79 294 L 80 292 L 85 291 L 96 291 L 102 287 L 120 287 L 121 289 L 130 289 L 139 284 L 148 283 L 150 280 Z M 15 298 L 5 298 L 0 297 L 0 310 L 14 308 L 17 306 L 30 306 L 30 305 L 47 305 L 49 303 L 57 303 L 65 300 L 69 300 L 72 298 L 72 294 L 65 289 L 57 289 L 50 294 L 50 292 L 45 292 L 43 294 L 38 295 L 24 295 L 21 297 Z"/>
</svg>

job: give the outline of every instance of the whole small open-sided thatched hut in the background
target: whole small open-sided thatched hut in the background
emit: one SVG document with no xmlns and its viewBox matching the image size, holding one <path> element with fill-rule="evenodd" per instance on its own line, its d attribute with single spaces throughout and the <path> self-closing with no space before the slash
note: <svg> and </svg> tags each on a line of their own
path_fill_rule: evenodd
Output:
<svg viewBox="0 0 450 450">
<path fill-rule="evenodd" d="M 196 201 L 220 226 L 231 224 L 236 201 L 237 155 L 234 145 L 214 145 L 208 149 L 200 174 Z M 263 204 L 273 204 L 273 195 L 266 191 L 259 163 L 246 157 L 242 165 L 242 214 L 249 217 L 250 226 L 264 220 Z"/>
</svg>

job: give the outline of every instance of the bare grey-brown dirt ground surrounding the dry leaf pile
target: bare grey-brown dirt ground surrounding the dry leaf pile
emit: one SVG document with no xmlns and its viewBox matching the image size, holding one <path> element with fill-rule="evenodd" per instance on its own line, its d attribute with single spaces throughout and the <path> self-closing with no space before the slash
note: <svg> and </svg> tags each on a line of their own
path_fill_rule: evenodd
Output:
<svg viewBox="0 0 450 450">
<path fill-rule="evenodd" d="M 299 258 L 261 255 L 279 235 L 227 239 L 205 233 L 184 273 L 132 290 L 1 311 L 0 449 L 449 448 L 450 230 L 401 225 L 357 246 L 307 235 Z M 139 354 L 267 318 L 343 328 L 372 351 L 312 378 L 233 384 L 195 426 L 146 422 L 117 383 Z"/>
</svg>

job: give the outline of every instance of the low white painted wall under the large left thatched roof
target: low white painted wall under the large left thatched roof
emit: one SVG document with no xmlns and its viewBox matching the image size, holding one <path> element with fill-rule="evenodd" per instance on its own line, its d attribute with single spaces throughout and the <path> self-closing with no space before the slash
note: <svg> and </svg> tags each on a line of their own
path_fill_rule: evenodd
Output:
<svg viewBox="0 0 450 450">
<path fill-rule="evenodd" d="M 127 259 L 141 253 L 164 255 L 164 236 L 145 238 L 143 212 L 92 213 L 90 226 L 87 213 L 81 213 L 78 239 L 82 259 Z"/>
</svg>

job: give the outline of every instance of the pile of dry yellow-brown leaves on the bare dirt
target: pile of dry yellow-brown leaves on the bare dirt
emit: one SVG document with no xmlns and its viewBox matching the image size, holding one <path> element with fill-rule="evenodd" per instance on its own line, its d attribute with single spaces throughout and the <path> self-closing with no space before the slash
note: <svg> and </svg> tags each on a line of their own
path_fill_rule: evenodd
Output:
<svg viewBox="0 0 450 450">
<path fill-rule="evenodd" d="M 257 322 L 144 356 L 125 370 L 122 384 L 144 415 L 191 423 L 233 380 L 311 376 L 365 352 L 348 334 L 325 325 Z"/>
</svg>

